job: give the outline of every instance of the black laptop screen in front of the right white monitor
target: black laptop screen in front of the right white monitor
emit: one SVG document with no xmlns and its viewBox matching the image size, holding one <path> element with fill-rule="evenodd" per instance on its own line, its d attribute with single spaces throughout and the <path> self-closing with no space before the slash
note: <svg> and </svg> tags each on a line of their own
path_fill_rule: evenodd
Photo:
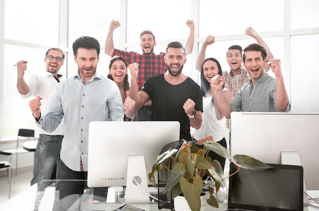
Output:
<svg viewBox="0 0 319 211">
<path fill-rule="evenodd" d="M 228 207 L 247 210 L 302 210 L 303 168 L 274 165 L 272 169 L 240 169 L 229 178 Z M 230 174 L 237 170 L 230 164 Z"/>
</svg>

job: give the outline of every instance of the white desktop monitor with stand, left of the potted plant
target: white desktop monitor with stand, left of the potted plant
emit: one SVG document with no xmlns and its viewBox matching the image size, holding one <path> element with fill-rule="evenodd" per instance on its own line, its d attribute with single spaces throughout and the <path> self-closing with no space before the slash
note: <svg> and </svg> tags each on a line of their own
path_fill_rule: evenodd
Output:
<svg viewBox="0 0 319 211">
<path fill-rule="evenodd" d="M 125 203 L 149 203 L 147 174 L 158 152 L 179 140 L 179 122 L 91 122 L 88 186 L 126 186 Z M 128 162 L 131 164 L 128 165 Z"/>
</svg>

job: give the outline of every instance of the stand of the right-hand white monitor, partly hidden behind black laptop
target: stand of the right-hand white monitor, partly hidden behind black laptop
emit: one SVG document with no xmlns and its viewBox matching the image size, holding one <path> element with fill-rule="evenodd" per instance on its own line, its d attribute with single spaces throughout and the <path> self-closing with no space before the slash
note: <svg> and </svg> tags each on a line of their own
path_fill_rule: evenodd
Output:
<svg viewBox="0 0 319 211">
<path fill-rule="evenodd" d="M 302 166 L 299 153 L 295 151 L 281 152 L 281 164 Z M 304 177 L 304 192 L 307 193 L 305 177 Z M 305 193 L 303 195 L 304 195 L 304 206 L 309 206 L 308 196 Z"/>
</svg>

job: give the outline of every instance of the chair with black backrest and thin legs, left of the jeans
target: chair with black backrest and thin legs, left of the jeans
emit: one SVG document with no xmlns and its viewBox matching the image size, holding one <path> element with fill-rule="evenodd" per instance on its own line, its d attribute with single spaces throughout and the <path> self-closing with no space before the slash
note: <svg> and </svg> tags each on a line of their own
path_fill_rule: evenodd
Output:
<svg viewBox="0 0 319 211">
<path fill-rule="evenodd" d="M 32 137 L 33 140 L 35 140 L 34 137 L 34 130 L 33 129 L 19 129 L 18 131 L 18 137 L 17 137 L 17 145 L 15 149 L 9 149 L 9 150 L 2 150 L 0 151 L 1 155 L 8 155 L 9 156 L 9 163 L 11 163 L 12 155 L 16 155 L 16 161 L 15 161 L 15 175 L 17 175 L 17 168 L 18 168 L 18 154 L 29 152 L 24 149 L 19 148 L 19 139 L 21 137 Z"/>
</svg>

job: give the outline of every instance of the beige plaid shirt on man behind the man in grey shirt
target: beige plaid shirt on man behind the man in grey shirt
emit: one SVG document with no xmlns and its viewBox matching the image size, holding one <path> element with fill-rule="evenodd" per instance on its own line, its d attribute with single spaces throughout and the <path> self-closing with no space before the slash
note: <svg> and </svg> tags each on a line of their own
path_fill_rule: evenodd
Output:
<svg viewBox="0 0 319 211">
<path fill-rule="evenodd" d="M 229 89 L 232 93 L 232 97 L 240 90 L 240 88 L 247 84 L 250 80 L 250 75 L 245 67 L 241 66 L 240 73 L 233 75 L 232 72 L 223 72 L 225 77 L 224 87 Z M 230 128 L 230 120 L 226 120 L 227 128 Z"/>
</svg>

